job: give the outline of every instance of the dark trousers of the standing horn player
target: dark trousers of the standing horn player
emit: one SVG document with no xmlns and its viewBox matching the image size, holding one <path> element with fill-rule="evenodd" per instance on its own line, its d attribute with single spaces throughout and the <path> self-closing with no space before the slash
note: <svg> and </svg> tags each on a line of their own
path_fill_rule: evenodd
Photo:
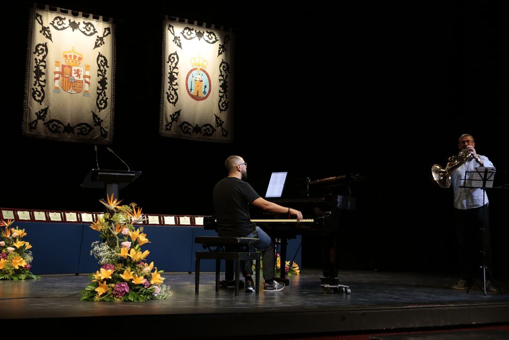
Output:
<svg viewBox="0 0 509 340">
<path fill-rule="evenodd" d="M 492 269 L 488 204 L 467 210 L 455 208 L 455 222 L 461 277 L 470 283 L 481 273 L 480 266 Z"/>
</svg>

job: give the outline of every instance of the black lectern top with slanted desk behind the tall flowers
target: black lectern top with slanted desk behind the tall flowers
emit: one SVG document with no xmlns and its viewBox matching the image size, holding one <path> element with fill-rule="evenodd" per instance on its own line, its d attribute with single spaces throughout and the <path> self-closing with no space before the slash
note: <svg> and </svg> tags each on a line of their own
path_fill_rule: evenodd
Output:
<svg viewBox="0 0 509 340">
<path fill-rule="evenodd" d="M 106 195 L 119 198 L 119 190 L 124 189 L 142 174 L 141 171 L 92 169 L 87 173 L 81 188 L 102 189 Z"/>
</svg>

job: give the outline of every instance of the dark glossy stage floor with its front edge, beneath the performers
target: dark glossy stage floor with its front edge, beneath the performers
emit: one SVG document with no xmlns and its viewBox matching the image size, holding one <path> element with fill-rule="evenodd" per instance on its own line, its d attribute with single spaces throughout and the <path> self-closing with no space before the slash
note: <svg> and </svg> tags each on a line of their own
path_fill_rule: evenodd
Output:
<svg viewBox="0 0 509 340">
<path fill-rule="evenodd" d="M 341 271 L 342 283 L 351 286 L 350 295 L 323 293 L 319 276 L 318 270 L 306 270 L 291 276 L 282 292 L 260 292 L 257 297 L 242 290 L 235 297 L 229 289 L 214 292 L 213 273 L 201 274 L 199 296 L 194 295 L 194 273 L 168 273 L 165 283 L 171 286 L 172 296 L 146 303 L 81 302 L 79 292 L 89 282 L 87 275 L 3 280 L 0 319 L 16 326 L 43 321 L 48 329 L 76 327 L 83 337 L 90 333 L 91 338 L 119 327 L 125 334 L 144 338 L 341 338 L 346 334 L 367 338 L 366 334 L 395 336 L 390 334 L 408 331 L 451 335 L 461 329 L 509 338 L 509 295 L 484 296 L 477 286 L 468 294 L 451 290 L 457 278 L 450 275 Z M 504 293 L 509 292 L 508 281 L 498 283 Z"/>
</svg>

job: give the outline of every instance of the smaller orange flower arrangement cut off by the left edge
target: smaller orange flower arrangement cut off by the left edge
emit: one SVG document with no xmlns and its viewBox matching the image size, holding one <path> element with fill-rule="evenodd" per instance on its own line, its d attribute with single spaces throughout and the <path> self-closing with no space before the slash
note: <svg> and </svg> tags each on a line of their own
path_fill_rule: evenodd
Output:
<svg viewBox="0 0 509 340">
<path fill-rule="evenodd" d="M 38 279 L 32 274 L 30 263 L 32 252 L 27 251 L 32 245 L 21 239 L 26 236 L 25 229 L 11 228 L 13 220 L 0 220 L 2 236 L 0 236 L 0 280 Z"/>
</svg>

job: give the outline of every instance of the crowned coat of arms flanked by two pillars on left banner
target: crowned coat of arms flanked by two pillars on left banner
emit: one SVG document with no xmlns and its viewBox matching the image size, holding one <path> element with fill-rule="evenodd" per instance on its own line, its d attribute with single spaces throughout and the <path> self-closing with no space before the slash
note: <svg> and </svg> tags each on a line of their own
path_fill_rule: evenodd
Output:
<svg viewBox="0 0 509 340">
<path fill-rule="evenodd" d="M 90 96 L 90 65 L 81 67 L 83 55 L 78 53 L 72 47 L 70 51 L 62 53 L 63 65 L 60 61 L 55 61 L 55 86 L 53 92 L 60 93 L 60 89 L 68 93 L 80 93 L 83 91 L 84 96 Z"/>
</svg>

